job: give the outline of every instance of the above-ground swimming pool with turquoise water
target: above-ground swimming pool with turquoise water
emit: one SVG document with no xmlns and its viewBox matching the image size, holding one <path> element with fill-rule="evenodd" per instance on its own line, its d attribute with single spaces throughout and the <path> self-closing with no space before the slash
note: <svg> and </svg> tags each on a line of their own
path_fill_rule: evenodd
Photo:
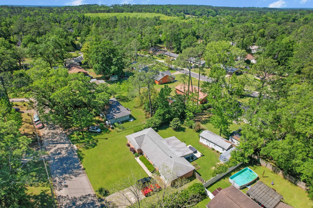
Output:
<svg viewBox="0 0 313 208">
<path fill-rule="evenodd" d="M 233 184 L 233 186 L 237 187 L 238 189 L 242 189 L 246 185 L 252 183 L 258 178 L 258 174 L 256 174 L 253 170 L 249 167 L 238 171 L 234 175 L 229 177 L 229 182 Z"/>
</svg>

